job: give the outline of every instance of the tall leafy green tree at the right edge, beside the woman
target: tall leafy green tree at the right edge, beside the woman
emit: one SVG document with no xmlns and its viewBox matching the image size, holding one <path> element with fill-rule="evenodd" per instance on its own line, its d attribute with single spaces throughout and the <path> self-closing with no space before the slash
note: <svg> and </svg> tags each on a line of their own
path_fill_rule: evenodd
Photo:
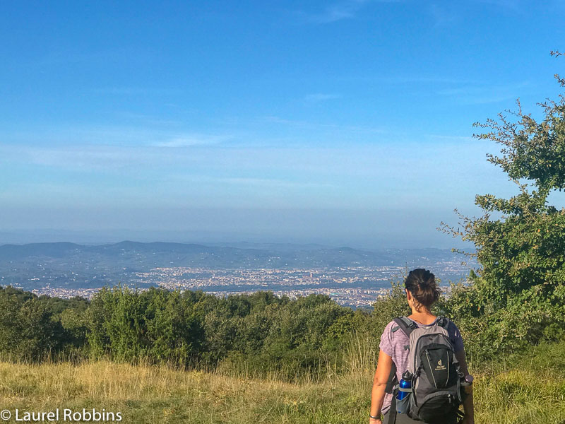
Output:
<svg viewBox="0 0 565 424">
<path fill-rule="evenodd" d="M 442 223 L 475 245 L 480 263 L 472 287 L 458 288 L 447 307 L 468 319 L 469 331 L 487 329 L 482 336 L 496 348 L 559 338 L 565 330 L 565 209 L 549 204 L 550 194 L 565 189 L 565 97 L 538 105 L 540 119 L 518 100 L 516 111 L 475 123 L 483 130 L 477 139 L 501 145 L 500 155 L 487 160 L 506 172 L 518 194 L 477 195 L 482 216 L 458 214 L 459 228 Z"/>
</svg>

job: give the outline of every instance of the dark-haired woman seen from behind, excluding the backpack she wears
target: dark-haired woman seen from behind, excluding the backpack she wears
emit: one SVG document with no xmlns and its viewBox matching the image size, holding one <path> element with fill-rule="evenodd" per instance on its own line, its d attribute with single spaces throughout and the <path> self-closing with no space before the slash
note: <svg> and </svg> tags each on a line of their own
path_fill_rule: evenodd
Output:
<svg viewBox="0 0 565 424">
<path fill-rule="evenodd" d="M 410 271 L 408 277 L 404 281 L 406 299 L 408 305 L 412 309 L 412 314 L 408 316 L 412 322 L 419 327 L 432 326 L 436 324 L 436 317 L 430 308 L 439 299 L 439 289 L 436 285 L 434 274 L 425 269 L 415 269 Z M 373 379 L 373 389 L 371 391 L 371 410 L 369 412 L 369 424 L 387 423 L 389 410 L 391 408 L 392 394 L 385 394 L 388 377 L 391 373 L 393 363 L 396 365 L 396 377 L 400 381 L 403 370 L 408 365 L 408 350 L 405 349 L 410 342 L 408 336 L 403 331 L 393 331 L 395 322 L 391 321 L 385 327 L 381 336 L 379 363 Z M 451 323 L 448 326 L 448 335 L 455 347 L 455 357 L 457 358 L 460 370 L 468 375 L 467 362 L 465 360 L 465 350 L 463 348 L 463 339 L 459 333 L 457 326 Z M 465 417 L 463 423 L 474 424 L 472 406 L 472 394 L 467 396 L 463 402 L 463 410 Z M 381 421 L 381 413 L 384 419 Z M 378 418 L 377 418 L 378 417 Z M 409 418 L 405 413 L 396 414 L 397 424 L 422 424 L 422 421 L 416 421 Z"/>
</svg>

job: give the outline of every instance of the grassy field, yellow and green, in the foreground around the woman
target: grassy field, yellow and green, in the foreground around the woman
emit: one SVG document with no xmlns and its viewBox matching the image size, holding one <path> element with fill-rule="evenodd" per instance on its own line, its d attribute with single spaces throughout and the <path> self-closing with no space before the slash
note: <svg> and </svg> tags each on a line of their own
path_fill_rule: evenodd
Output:
<svg viewBox="0 0 565 424">
<path fill-rule="evenodd" d="M 474 370 L 475 421 L 565 424 L 564 354 L 565 343 L 538 346 Z M 367 423 L 374 371 L 365 368 L 291 384 L 276 375 L 254 379 L 105 361 L 2 362 L 0 410 L 104 408 L 121 412 L 123 423 Z"/>
</svg>

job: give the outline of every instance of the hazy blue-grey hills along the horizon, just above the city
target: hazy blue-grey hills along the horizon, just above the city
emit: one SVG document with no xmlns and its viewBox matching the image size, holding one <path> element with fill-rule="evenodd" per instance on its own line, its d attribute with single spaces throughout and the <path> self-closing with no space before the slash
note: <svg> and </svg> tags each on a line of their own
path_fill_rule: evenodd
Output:
<svg viewBox="0 0 565 424">
<path fill-rule="evenodd" d="M 97 288 L 126 283 L 146 285 L 136 273 L 155 268 L 337 269 L 380 266 L 434 266 L 463 259 L 449 249 L 381 249 L 319 245 L 198 245 L 124 240 L 105 245 L 69 242 L 0 246 L 0 285 L 35 288 Z M 443 271 L 442 271 L 443 272 Z M 451 271 L 450 271 L 451 272 Z M 460 278 L 460 271 L 440 278 Z"/>
</svg>

